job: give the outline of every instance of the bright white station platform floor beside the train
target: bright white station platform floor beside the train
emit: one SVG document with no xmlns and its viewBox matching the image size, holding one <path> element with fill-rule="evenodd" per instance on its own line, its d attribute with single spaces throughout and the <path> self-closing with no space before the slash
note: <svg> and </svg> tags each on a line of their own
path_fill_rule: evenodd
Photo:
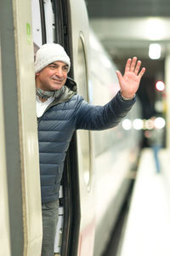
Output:
<svg viewBox="0 0 170 256">
<path fill-rule="evenodd" d="M 170 255 L 170 152 L 161 149 L 159 156 L 158 174 L 152 150 L 142 152 L 116 256 Z"/>
</svg>

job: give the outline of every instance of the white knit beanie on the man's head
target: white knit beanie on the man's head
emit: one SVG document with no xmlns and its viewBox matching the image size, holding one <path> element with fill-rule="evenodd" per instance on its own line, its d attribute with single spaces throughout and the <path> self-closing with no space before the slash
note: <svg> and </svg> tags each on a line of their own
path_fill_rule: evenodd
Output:
<svg viewBox="0 0 170 256">
<path fill-rule="evenodd" d="M 70 58 L 60 44 L 43 44 L 36 53 L 35 72 L 38 73 L 54 61 L 63 61 L 69 66 L 68 71 L 70 70 Z"/>
</svg>

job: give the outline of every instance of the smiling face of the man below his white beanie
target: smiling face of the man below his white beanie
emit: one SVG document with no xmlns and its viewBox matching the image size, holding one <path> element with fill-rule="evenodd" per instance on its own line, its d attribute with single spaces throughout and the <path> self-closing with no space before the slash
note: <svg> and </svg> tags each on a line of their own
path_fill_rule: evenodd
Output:
<svg viewBox="0 0 170 256">
<path fill-rule="evenodd" d="M 54 61 L 36 74 L 36 86 L 42 90 L 59 90 L 67 79 L 68 65 Z"/>
</svg>

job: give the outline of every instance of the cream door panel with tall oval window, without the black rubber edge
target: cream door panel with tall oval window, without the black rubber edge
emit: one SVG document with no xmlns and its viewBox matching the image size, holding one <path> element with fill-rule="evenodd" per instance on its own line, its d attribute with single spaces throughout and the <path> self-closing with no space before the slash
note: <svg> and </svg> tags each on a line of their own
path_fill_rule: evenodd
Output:
<svg viewBox="0 0 170 256">
<path fill-rule="evenodd" d="M 70 1 L 71 44 L 73 74 L 77 82 L 77 90 L 86 101 L 89 100 L 88 68 L 89 60 L 89 26 L 88 14 L 84 1 Z M 77 131 L 77 168 L 78 188 L 80 201 L 80 224 L 77 232 L 78 251 L 71 255 L 93 255 L 95 230 L 95 202 L 94 202 L 94 163 L 93 163 L 93 137 L 91 131 Z M 72 170 L 74 172 L 74 170 Z M 71 173 L 72 173 L 71 172 Z M 77 212 L 77 207 L 74 209 Z M 73 212 L 74 213 L 74 212 Z M 77 223 L 77 221 L 76 221 Z"/>
</svg>

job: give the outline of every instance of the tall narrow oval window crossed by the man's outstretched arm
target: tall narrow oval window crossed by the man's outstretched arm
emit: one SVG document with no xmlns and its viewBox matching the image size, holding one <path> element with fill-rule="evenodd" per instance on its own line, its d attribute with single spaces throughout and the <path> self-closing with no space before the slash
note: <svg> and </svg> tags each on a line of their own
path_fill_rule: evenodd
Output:
<svg viewBox="0 0 170 256">
<path fill-rule="evenodd" d="M 84 49 L 83 37 L 79 38 L 78 42 L 78 93 L 88 101 L 88 71 L 86 62 L 86 53 Z M 83 177 L 86 185 L 89 187 L 91 182 L 91 157 L 90 157 L 90 131 L 78 131 L 79 139 L 79 150 L 81 151 L 82 159 L 79 163 L 79 168 L 83 171 Z M 80 166 L 80 164 L 82 166 Z"/>
</svg>

